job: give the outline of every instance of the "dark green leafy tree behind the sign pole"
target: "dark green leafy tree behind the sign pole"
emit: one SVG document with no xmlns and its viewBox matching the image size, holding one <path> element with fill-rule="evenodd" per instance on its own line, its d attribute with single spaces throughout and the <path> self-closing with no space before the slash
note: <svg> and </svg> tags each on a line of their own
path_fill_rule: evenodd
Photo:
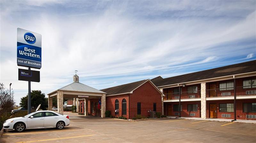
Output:
<svg viewBox="0 0 256 143">
<path fill-rule="evenodd" d="M 48 107 L 48 98 L 41 90 L 32 90 L 31 92 L 31 107 L 36 108 L 41 104 L 40 108 L 45 110 Z M 28 95 L 20 98 L 20 106 L 28 108 Z"/>
</svg>

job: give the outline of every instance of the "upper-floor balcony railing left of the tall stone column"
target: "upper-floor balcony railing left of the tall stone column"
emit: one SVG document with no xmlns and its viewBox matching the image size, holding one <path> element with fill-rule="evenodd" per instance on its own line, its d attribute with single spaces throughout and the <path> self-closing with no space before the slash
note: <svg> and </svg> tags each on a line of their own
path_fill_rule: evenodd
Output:
<svg viewBox="0 0 256 143">
<path fill-rule="evenodd" d="M 164 100 L 179 99 L 179 92 L 165 93 Z M 201 90 L 180 92 L 180 99 L 200 98 Z"/>
</svg>

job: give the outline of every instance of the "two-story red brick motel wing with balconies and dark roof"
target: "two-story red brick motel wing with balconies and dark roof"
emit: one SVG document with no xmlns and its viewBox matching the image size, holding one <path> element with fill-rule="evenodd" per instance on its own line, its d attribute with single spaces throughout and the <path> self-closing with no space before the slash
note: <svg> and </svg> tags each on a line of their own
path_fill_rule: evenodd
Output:
<svg viewBox="0 0 256 143">
<path fill-rule="evenodd" d="M 164 115 L 256 120 L 256 60 L 151 81 Z"/>
</svg>

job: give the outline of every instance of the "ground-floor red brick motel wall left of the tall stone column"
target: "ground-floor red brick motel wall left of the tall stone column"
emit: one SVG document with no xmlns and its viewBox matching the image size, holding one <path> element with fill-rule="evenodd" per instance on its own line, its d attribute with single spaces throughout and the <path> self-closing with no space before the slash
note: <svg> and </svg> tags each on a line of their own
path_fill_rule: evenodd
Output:
<svg viewBox="0 0 256 143">
<path fill-rule="evenodd" d="M 168 104 L 170 104 L 172 106 L 172 112 L 171 115 L 168 115 L 168 109 L 167 106 Z M 168 116 L 177 116 L 175 115 L 175 113 L 179 113 L 179 111 L 173 111 L 173 105 L 179 105 L 179 102 L 173 102 L 173 103 L 165 103 L 164 104 L 164 115 L 168 115 Z M 188 111 L 188 104 L 197 104 L 197 111 Z M 200 110 L 201 110 L 201 106 L 200 106 L 201 102 L 181 102 L 182 105 L 182 111 L 180 112 L 181 117 L 197 117 L 200 118 Z M 196 116 L 189 116 L 189 113 L 195 113 Z"/>
</svg>

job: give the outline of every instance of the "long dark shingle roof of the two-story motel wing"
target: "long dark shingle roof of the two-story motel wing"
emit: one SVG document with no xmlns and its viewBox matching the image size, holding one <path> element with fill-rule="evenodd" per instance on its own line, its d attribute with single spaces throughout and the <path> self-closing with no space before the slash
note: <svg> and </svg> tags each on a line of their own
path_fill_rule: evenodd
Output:
<svg viewBox="0 0 256 143">
<path fill-rule="evenodd" d="M 247 62 L 238 63 L 234 65 L 224 66 L 220 68 L 212 68 L 212 69 L 198 71 L 198 72 L 189 73 L 185 75 L 168 77 L 164 79 L 161 79 L 161 77 L 156 77 L 151 81 L 157 87 L 159 87 L 159 86 L 172 85 L 172 84 L 178 84 L 178 83 L 184 83 L 184 82 L 204 80 L 204 79 L 215 78 L 215 77 L 250 73 L 255 71 L 256 71 L 256 60 L 253 60 L 253 61 L 247 61 Z"/>
</svg>

